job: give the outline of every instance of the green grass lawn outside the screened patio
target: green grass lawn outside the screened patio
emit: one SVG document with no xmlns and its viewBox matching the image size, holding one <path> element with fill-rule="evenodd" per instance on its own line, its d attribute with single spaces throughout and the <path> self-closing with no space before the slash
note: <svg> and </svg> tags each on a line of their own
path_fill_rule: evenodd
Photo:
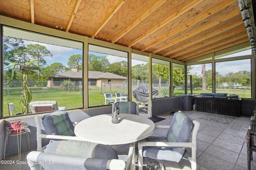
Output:
<svg viewBox="0 0 256 170">
<path fill-rule="evenodd" d="M 135 89 L 135 88 L 134 88 Z M 157 88 L 156 88 L 157 89 Z M 83 107 L 83 99 L 82 92 L 74 91 L 67 92 L 62 91 L 61 89 L 48 88 L 42 89 L 40 87 L 31 87 L 32 90 L 32 101 L 38 100 L 54 100 L 58 102 L 58 106 L 65 106 L 67 109 L 75 109 Z M 113 88 L 111 91 L 112 97 L 115 97 L 116 92 L 122 92 L 123 88 Z M 158 90 L 158 89 L 157 89 Z M 158 93 L 159 96 L 162 95 L 164 90 L 168 90 L 168 88 L 161 88 Z M 224 91 L 225 90 L 225 91 Z M 184 90 L 176 89 L 174 92 L 174 96 L 180 96 L 184 94 Z M 22 88 L 4 88 L 4 97 L 3 97 L 3 115 L 8 116 L 8 103 L 14 103 L 15 111 L 13 111 L 13 115 L 17 113 L 21 113 L 22 105 L 20 105 L 20 100 L 22 98 Z M 193 93 L 202 93 L 202 90 L 193 90 Z M 212 90 L 207 90 L 204 92 L 211 93 Z M 239 98 L 251 98 L 250 89 L 218 89 L 216 92 L 225 92 L 228 94 L 237 94 Z M 101 88 L 92 87 L 88 91 L 88 102 L 89 107 L 91 106 L 101 106 L 105 105 L 105 98 L 102 93 L 110 93 L 110 90 L 102 90 Z M 9 94 L 9 95 L 8 95 Z M 166 94 L 169 96 L 169 90 Z M 132 96 L 132 101 L 137 102 L 135 98 Z M 139 103 L 139 102 L 137 102 Z"/>
</svg>

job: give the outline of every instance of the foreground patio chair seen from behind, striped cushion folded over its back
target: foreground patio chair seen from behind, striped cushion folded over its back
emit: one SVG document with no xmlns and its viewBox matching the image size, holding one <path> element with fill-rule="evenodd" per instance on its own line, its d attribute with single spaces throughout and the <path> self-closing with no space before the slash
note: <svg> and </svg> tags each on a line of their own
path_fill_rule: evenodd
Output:
<svg viewBox="0 0 256 170">
<path fill-rule="evenodd" d="M 112 147 L 87 141 L 54 141 L 44 152 L 27 155 L 30 170 L 125 170 L 126 162 L 118 159 Z M 129 167 L 130 168 L 130 167 Z"/>
</svg>

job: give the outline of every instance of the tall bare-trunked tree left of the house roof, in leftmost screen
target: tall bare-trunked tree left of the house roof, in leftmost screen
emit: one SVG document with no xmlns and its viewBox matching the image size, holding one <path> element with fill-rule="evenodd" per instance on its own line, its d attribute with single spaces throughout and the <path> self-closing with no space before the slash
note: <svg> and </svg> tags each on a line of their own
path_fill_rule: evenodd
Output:
<svg viewBox="0 0 256 170">
<path fill-rule="evenodd" d="M 51 57 L 51 52 L 46 49 L 45 46 L 39 44 L 29 44 L 27 45 L 26 52 L 32 57 L 32 59 L 37 60 L 37 66 L 40 67 L 40 64 L 46 64 L 44 57 Z M 38 79 L 40 79 L 40 72 L 38 70 Z"/>
</svg>

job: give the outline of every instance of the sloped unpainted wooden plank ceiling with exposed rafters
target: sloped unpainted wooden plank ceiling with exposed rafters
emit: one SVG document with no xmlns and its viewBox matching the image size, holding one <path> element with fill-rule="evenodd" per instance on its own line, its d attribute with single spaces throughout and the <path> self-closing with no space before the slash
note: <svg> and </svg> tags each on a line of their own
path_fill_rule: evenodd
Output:
<svg viewBox="0 0 256 170">
<path fill-rule="evenodd" d="M 185 62 L 249 41 L 237 0 L 1 0 L 0 15 Z"/>
</svg>

